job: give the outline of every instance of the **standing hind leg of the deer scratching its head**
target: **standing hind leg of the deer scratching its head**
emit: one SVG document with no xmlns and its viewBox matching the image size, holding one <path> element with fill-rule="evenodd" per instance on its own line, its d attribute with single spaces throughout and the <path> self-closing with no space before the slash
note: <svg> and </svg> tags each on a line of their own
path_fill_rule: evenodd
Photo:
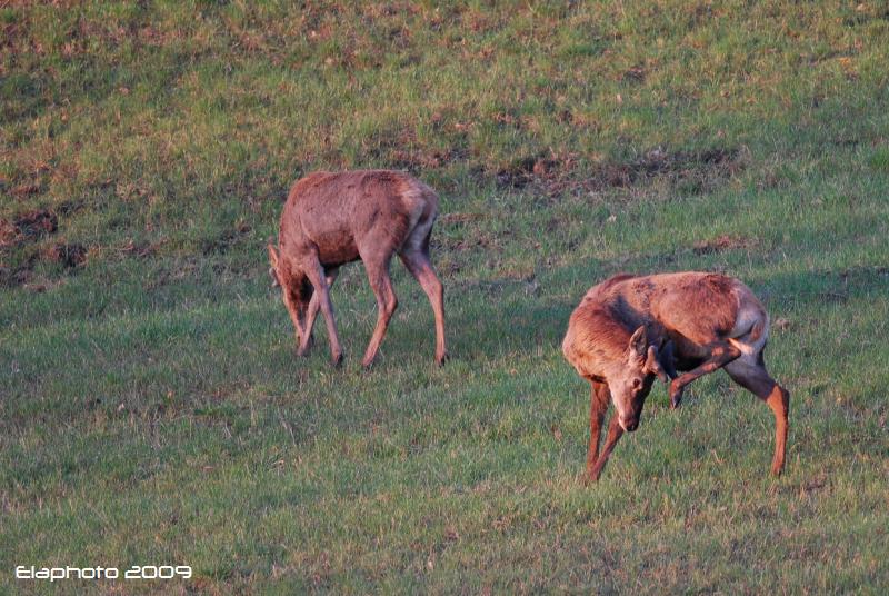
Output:
<svg viewBox="0 0 889 596">
<path fill-rule="evenodd" d="M 726 366 L 726 372 L 735 383 L 765 401 L 775 414 L 775 456 L 771 460 L 771 473 L 776 476 L 781 474 L 787 450 L 790 393 L 778 385 L 766 370 L 761 351 L 756 357 L 745 355 L 743 358 L 729 364 Z"/>
</svg>

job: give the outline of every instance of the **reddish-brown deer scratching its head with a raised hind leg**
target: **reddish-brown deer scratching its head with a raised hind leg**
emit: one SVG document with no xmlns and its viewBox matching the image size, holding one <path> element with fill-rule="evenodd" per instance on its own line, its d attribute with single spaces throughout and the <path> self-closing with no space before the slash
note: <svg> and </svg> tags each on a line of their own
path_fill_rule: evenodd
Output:
<svg viewBox="0 0 889 596">
<path fill-rule="evenodd" d="M 565 358 L 591 386 L 587 481 L 599 479 L 623 433 L 638 428 L 656 378 L 669 383 L 670 407 L 678 408 L 691 381 L 720 368 L 775 414 L 771 473 L 781 474 L 790 394 L 766 369 L 768 338 L 766 309 L 732 277 L 619 274 L 590 288 L 562 341 Z M 616 411 L 600 455 L 609 405 Z"/>
</svg>

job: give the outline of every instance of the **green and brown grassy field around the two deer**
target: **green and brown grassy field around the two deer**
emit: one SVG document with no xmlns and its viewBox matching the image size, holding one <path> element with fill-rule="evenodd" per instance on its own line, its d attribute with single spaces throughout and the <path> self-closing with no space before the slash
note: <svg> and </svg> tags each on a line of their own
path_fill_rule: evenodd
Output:
<svg viewBox="0 0 889 596">
<path fill-rule="evenodd" d="M 306 4 L 0 2 L 0 593 L 885 594 L 889 4 Z M 443 368 L 398 262 L 371 371 L 360 265 L 293 355 L 264 242 L 363 167 L 441 195 Z M 568 316 L 681 269 L 769 309 L 786 474 L 719 372 L 585 486 Z"/>
</svg>

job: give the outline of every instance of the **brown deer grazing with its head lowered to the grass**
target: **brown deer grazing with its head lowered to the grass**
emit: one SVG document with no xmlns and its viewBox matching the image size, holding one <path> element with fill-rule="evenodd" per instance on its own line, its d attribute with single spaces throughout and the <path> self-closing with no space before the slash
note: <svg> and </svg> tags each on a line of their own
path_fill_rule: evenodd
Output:
<svg viewBox="0 0 889 596">
<path fill-rule="evenodd" d="M 318 171 L 297 180 L 281 213 L 278 248 L 268 244 L 269 272 L 296 327 L 297 355 L 311 348 L 320 309 L 332 364 L 342 362 L 330 288 L 342 265 L 361 260 L 377 298 L 377 325 L 362 359 L 369 368 L 398 307 L 389 277 L 389 264 L 398 255 L 432 305 L 436 361 L 443 364 L 444 290 L 429 258 L 437 216 L 438 195 L 400 171 Z"/>
</svg>

